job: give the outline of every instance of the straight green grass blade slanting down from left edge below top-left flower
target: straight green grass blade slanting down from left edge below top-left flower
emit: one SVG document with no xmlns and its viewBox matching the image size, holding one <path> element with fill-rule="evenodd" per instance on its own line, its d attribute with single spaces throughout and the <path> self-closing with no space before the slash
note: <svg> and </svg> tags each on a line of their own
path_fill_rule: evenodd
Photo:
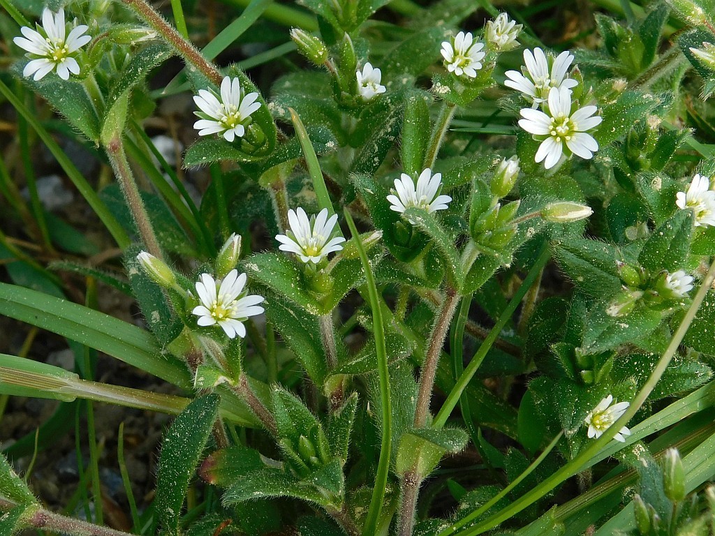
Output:
<svg viewBox="0 0 715 536">
<path fill-rule="evenodd" d="M 77 167 L 75 167 L 67 155 L 64 154 L 64 151 L 62 151 L 57 142 L 55 142 L 49 132 L 46 131 L 44 126 L 41 125 L 39 119 L 37 119 L 36 116 L 34 116 L 34 114 L 32 114 L 26 106 L 22 104 L 20 99 L 18 99 L 10 88 L 1 80 L 0 93 L 5 96 L 9 103 L 14 106 L 17 112 L 23 116 L 27 123 L 34 129 L 34 131 L 36 131 L 39 138 L 47 146 L 47 149 L 49 149 L 52 156 L 55 157 L 60 167 L 67 174 L 67 177 L 69 177 L 74 186 L 77 187 L 79 193 L 82 194 L 82 197 L 87 200 L 87 203 L 89 203 L 89 206 L 92 207 L 94 213 L 97 214 L 99 219 L 102 220 L 104 227 L 107 227 L 109 233 L 112 234 L 114 242 L 117 242 L 117 245 L 122 249 L 128 247 L 132 241 L 129 239 L 129 236 L 127 236 L 127 233 L 124 232 L 124 229 L 122 229 L 122 226 L 119 222 L 117 222 L 117 219 L 115 219 L 114 216 L 112 216 L 112 213 L 109 212 L 107 205 L 102 202 L 102 199 L 99 199 L 99 195 L 97 195 L 97 192 L 95 192 L 89 185 L 87 179 L 82 177 L 82 174 L 79 172 Z"/>
</svg>

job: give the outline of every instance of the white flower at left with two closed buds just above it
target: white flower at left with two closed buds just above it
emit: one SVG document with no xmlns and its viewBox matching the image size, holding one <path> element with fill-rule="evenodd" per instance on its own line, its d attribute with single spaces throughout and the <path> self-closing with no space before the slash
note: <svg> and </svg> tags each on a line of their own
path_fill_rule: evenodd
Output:
<svg viewBox="0 0 715 536">
<path fill-rule="evenodd" d="M 243 322 L 248 317 L 255 317 L 263 312 L 260 303 L 262 296 L 243 295 L 246 285 L 246 274 L 238 274 L 231 270 L 223 281 L 215 280 L 209 274 L 201 274 L 196 283 L 200 305 L 194 307 L 193 314 L 199 319 L 199 326 L 219 324 L 226 334 L 233 339 L 246 336 Z"/>
</svg>

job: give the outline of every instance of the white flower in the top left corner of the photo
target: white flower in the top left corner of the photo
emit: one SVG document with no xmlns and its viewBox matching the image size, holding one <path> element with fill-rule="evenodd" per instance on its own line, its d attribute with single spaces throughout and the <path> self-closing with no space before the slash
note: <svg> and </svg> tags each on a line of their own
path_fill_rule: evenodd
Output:
<svg viewBox="0 0 715 536">
<path fill-rule="evenodd" d="M 37 26 L 38 31 L 22 26 L 20 31 L 24 37 L 13 39 L 14 44 L 28 51 L 26 56 L 31 58 L 22 76 L 34 74 L 33 78 L 39 80 L 52 69 L 56 69 L 57 76 L 63 80 L 68 80 L 70 73 L 79 74 L 79 64 L 74 59 L 74 53 L 92 41 L 92 36 L 84 35 L 88 29 L 80 24 L 66 35 L 64 9 L 54 14 L 45 8 L 42 11 L 42 26 Z"/>
</svg>

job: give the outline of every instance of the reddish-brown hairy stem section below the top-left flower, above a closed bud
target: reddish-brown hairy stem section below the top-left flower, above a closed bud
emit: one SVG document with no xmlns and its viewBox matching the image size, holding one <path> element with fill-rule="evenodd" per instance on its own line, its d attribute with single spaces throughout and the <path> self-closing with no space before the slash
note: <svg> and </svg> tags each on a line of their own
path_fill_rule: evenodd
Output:
<svg viewBox="0 0 715 536">
<path fill-rule="evenodd" d="M 154 234 L 154 227 L 152 227 L 152 222 L 149 221 L 149 214 L 147 214 L 147 209 L 144 207 L 139 187 L 137 187 L 134 174 L 132 174 L 132 169 L 129 167 L 129 162 L 127 162 L 127 154 L 124 152 L 122 138 L 119 136 L 114 137 L 109 141 L 105 149 L 107 149 L 109 162 L 112 164 L 112 169 L 114 169 L 114 175 L 119 180 L 119 186 L 122 187 L 122 193 L 124 194 L 124 199 L 127 200 L 129 211 L 132 212 L 134 222 L 137 223 L 139 235 L 142 237 L 144 246 L 147 247 L 147 252 L 158 259 L 163 259 L 162 248 L 159 247 L 157 235 Z"/>
</svg>

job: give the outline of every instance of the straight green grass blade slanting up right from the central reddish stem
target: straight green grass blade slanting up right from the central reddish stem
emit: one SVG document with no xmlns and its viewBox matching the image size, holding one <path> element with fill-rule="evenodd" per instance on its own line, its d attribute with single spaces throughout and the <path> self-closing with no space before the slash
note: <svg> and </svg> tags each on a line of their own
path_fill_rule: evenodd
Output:
<svg viewBox="0 0 715 536">
<path fill-rule="evenodd" d="M 509 319 L 511 319 L 511 315 L 514 313 L 514 311 L 516 311 L 516 307 L 518 307 L 518 305 L 521 303 L 521 300 L 526 295 L 526 292 L 528 292 L 528 289 L 531 287 L 533 282 L 536 281 L 538 274 L 541 273 L 541 269 L 546 266 L 549 257 L 550 253 L 548 250 L 548 244 L 544 244 L 541 248 L 541 254 L 539 254 L 538 259 L 534 263 L 533 267 L 531 267 L 531 269 L 529 270 L 529 273 L 526 275 L 526 278 L 521 284 L 521 287 L 519 287 L 519 289 L 516 291 L 516 294 L 514 294 L 511 301 L 506 306 L 506 309 L 504 309 L 504 311 L 502 312 L 501 317 L 499 317 L 498 322 L 494 324 L 494 327 L 484 339 L 484 342 L 480 345 L 479 349 L 474 354 L 474 357 L 472 357 L 472 360 L 468 364 L 464 373 L 457 380 L 454 389 L 452 389 L 452 392 L 448 394 L 448 397 L 445 400 L 442 409 L 439 411 L 432 424 L 434 428 L 440 429 L 445 425 L 445 422 L 447 422 L 450 414 L 452 413 L 452 410 L 454 410 L 455 406 L 458 404 L 462 392 L 467 388 L 475 372 L 477 372 L 477 369 L 486 357 L 487 352 L 492 347 L 496 339 L 499 337 L 501 330 L 504 329 L 506 323 L 509 322 Z"/>
</svg>

